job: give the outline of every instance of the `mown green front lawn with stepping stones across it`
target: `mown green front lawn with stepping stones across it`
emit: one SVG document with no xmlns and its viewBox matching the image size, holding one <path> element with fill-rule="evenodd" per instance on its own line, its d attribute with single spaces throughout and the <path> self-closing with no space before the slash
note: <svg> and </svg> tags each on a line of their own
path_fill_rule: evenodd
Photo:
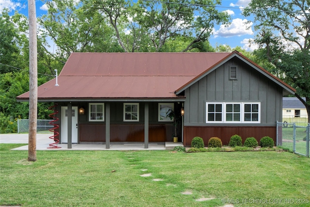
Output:
<svg viewBox="0 0 310 207">
<path fill-rule="evenodd" d="M 290 207 L 310 203 L 310 160 L 287 152 L 46 150 L 28 162 L 27 151 L 9 150 L 18 146 L 0 144 L 0 205 L 217 207 L 224 205 L 222 199 L 238 199 L 234 207 L 288 206 L 284 199 L 308 199 L 308 204 Z M 146 173 L 152 176 L 140 176 Z M 195 201 L 202 197 L 214 199 Z M 283 201 L 258 205 L 242 199 Z"/>
</svg>

